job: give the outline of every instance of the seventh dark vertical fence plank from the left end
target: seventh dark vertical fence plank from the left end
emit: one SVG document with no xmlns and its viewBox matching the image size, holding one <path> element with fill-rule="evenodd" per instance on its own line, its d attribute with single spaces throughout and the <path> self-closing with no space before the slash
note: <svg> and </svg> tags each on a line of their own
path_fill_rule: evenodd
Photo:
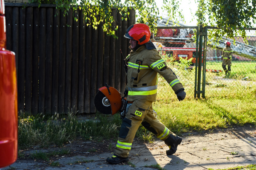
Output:
<svg viewBox="0 0 256 170">
<path fill-rule="evenodd" d="M 53 57 L 53 8 L 46 9 L 46 77 L 45 77 L 45 113 L 51 114 L 52 57 Z"/>
</svg>

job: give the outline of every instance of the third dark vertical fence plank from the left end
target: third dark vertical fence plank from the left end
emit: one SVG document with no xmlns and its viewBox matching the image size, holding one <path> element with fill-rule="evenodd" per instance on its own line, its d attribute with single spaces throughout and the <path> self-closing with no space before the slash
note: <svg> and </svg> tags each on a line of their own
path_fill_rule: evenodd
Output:
<svg viewBox="0 0 256 170">
<path fill-rule="evenodd" d="M 25 48 L 26 48 L 26 11 L 25 9 L 19 8 L 19 65 L 18 65 L 18 110 L 24 112 L 25 104 Z"/>
</svg>

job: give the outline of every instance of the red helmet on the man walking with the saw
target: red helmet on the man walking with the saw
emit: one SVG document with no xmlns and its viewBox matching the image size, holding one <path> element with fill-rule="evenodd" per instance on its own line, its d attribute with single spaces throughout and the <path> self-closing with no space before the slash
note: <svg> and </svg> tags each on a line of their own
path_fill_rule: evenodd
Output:
<svg viewBox="0 0 256 170">
<path fill-rule="evenodd" d="M 146 24 L 134 24 L 126 30 L 124 37 L 137 40 L 138 44 L 142 45 L 149 42 L 150 35 L 149 26 Z"/>
</svg>

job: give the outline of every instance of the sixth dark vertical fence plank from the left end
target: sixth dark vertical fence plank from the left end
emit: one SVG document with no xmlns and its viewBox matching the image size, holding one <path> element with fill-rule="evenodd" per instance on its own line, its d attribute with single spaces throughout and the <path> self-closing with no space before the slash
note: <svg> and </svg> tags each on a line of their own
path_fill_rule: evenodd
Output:
<svg viewBox="0 0 256 170">
<path fill-rule="evenodd" d="M 45 66 L 46 66 L 46 8 L 40 8 L 39 21 L 39 85 L 38 112 L 45 113 Z"/>
</svg>

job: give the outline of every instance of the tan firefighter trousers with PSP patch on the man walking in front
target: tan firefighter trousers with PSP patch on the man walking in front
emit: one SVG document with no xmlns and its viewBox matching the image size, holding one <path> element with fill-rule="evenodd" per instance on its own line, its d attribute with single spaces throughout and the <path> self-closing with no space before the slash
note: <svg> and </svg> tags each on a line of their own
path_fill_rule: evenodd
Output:
<svg viewBox="0 0 256 170">
<path fill-rule="evenodd" d="M 154 133 L 169 146 L 176 135 L 165 127 L 154 115 L 152 102 L 135 100 L 122 121 L 115 155 L 128 157 L 132 142 L 140 124 Z M 167 140 L 166 140 L 167 139 Z"/>
</svg>

